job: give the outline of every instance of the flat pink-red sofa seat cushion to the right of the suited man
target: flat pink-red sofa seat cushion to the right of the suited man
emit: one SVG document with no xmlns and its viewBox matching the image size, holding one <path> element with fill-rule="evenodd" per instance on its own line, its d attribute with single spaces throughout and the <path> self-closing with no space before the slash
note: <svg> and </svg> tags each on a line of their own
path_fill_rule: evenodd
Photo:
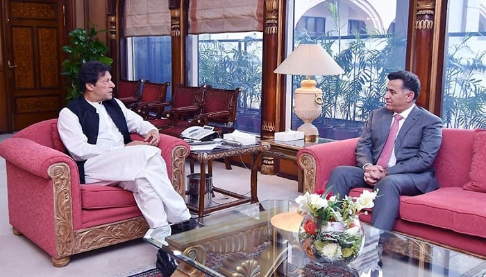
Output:
<svg viewBox="0 0 486 277">
<path fill-rule="evenodd" d="M 424 195 L 401 198 L 402 220 L 486 238 L 485 195 L 461 187 L 439 188 Z"/>
</svg>

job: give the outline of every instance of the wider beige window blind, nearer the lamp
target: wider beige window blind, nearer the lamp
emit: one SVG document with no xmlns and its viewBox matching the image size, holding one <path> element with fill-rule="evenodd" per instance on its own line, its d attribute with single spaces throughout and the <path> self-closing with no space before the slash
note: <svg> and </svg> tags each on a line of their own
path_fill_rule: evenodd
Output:
<svg viewBox="0 0 486 277">
<path fill-rule="evenodd" d="M 262 31 L 264 0 L 191 0 L 189 33 Z"/>
</svg>

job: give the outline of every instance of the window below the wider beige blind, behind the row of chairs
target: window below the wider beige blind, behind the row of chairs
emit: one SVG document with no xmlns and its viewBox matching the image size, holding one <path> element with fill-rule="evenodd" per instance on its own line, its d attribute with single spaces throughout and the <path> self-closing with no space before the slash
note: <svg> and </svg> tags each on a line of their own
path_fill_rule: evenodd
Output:
<svg viewBox="0 0 486 277">
<path fill-rule="evenodd" d="M 235 127 L 260 133 L 262 33 L 190 35 L 187 59 L 190 84 L 219 89 L 240 87 Z"/>
</svg>

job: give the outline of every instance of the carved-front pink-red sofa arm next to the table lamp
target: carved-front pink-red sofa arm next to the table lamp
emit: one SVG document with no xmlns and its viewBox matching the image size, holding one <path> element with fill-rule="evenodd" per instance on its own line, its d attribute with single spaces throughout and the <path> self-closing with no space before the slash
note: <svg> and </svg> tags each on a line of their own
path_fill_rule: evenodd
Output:
<svg viewBox="0 0 486 277">
<path fill-rule="evenodd" d="M 337 166 L 355 166 L 358 138 L 332 141 L 302 148 L 297 152 L 297 165 L 303 170 L 303 190 L 314 193 L 324 189 L 330 172 Z"/>
</svg>

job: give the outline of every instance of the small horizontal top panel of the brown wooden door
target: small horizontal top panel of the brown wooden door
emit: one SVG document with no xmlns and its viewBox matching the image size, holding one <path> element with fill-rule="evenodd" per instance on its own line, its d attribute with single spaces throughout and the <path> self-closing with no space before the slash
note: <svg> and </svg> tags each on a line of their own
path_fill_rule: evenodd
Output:
<svg viewBox="0 0 486 277">
<path fill-rule="evenodd" d="M 36 19 L 56 19 L 56 3 L 10 3 L 10 17 L 17 18 L 36 18 Z"/>
</svg>

